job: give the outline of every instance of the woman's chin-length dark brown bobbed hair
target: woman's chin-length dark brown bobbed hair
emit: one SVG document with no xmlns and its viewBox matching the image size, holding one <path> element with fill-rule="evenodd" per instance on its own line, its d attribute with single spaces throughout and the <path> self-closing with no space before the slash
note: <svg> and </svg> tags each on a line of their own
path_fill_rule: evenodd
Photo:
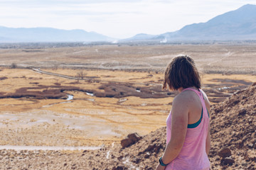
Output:
<svg viewBox="0 0 256 170">
<path fill-rule="evenodd" d="M 174 57 L 164 73 L 162 89 L 178 90 L 183 87 L 186 89 L 191 86 L 201 88 L 201 78 L 193 59 L 187 55 Z"/>
</svg>

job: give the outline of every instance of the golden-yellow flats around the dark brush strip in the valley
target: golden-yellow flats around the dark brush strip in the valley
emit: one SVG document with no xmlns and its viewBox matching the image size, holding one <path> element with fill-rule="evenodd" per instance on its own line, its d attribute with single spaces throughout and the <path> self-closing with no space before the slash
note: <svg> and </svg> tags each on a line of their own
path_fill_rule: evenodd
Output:
<svg viewBox="0 0 256 170">
<path fill-rule="evenodd" d="M 46 71 L 74 77 L 78 72 L 74 69 L 47 69 Z M 31 69 L 2 69 L 1 76 L 8 79 L 0 81 L 0 92 L 14 93 L 22 87 L 55 84 L 103 91 L 99 86 L 108 81 L 129 82 L 133 86 L 146 86 L 146 88 L 156 88 L 161 91 L 159 80 L 163 75 L 160 73 L 111 70 L 84 70 L 83 72 L 86 77 L 96 77 L 93 79 L 95 82 L 40 74 Z M 223 83 L 224 80 L 230 81 L 227 84 Z M 216 98 L 225 98 L 226 95 L 231 94 L 229 90 L 234 91 L 232 88 L 241 89 L 253 81 L 256 81 L 256 77 L 251 75 L 203 74 L 203 89 L 207 91 L 214 88 L 220 93 L 216 94 L 215 91 L 209 93 L 209 97 L 215 101 Z M 29 89 L 28 91 L 46 89 Z M 68 100 L 31 97 L 1 98 L 0 144 L 75 147 L 110 145 L 112 142 L 119 142 L 129 133 L 138 132 L 140 135 L 146 135 L 164 126 L 174 98 L 172 95 L 164 98 L 140 98 L 139 96 L 106 98 L 92 96 L 85 91 L 64 92 L 67 96 L 72 95 L 73 98 Z"/>
</svg>

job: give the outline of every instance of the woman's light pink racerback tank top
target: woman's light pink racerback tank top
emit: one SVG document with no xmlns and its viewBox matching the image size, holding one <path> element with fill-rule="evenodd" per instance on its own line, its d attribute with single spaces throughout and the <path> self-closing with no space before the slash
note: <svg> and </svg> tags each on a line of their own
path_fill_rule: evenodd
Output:
<svg viewBox="0 0 256 170">
<path fill-rule="evenodd" d="M 210 169 L 210 162 L 206 154 L 206 137 L 208 135 L 209 117 L 204 102 L 202 90 L 187 88 L 183 91 L 195 91 L 203 106 L 203 117 L 201 123 L 196 128 L 187 128 L 186 139 L 178 154 L 178 157 L 166 166 L 166 170 L 204 170 Z M 171 140 L 171 112 L 166 120 L 166 142 Z"/>
</svg>

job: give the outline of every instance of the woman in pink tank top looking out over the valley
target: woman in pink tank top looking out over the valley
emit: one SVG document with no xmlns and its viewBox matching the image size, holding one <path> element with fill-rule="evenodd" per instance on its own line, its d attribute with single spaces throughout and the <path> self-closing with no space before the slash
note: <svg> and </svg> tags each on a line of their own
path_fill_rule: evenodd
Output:
<svg viewBox="0 0 256 170">
<path fill-rule="evenodd" d="M 166 120 L 167 146 L 157 170 L 209 170 L 210 102 L 191 57 L 174 57 L 164 74 L 163 89 L 178 90 Z"/>
</svg>

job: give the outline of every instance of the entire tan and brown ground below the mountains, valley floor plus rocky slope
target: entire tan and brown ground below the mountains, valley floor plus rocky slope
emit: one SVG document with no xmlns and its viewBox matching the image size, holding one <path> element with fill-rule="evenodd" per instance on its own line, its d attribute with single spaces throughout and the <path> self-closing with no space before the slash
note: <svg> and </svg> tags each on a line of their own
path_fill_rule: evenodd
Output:
<svg viewBox="0 0 256 170">
<path fill-rule="evenodd" d="M 246 91 L 232 96 L 256 81 L 255 49 L 255 45 L 0 49 L 0 145 L 102 147 L 3 149 L 0 169 L 154 169 L 166 145 L 161 127 L 176 96 L 161 91 L 161 81 L 166 64 L 179 54 L 193 57 L 203 72 L 202 89 L 216 104 L 211 113 L 213 169 L 255 169 L 255 96 Z M 49 74 L 9 69 L 12 64 L 41 67 Z M 73 96 L 70 101 L 68 94 Z M 221 103 L 226 98 L 230 100 Z M 120 140 L 132 132 L 143 139 L 121 149 Z M 223 147 L 231 149 L 235 164 L 224 165 L 218 157 Z"/>
</svg>

